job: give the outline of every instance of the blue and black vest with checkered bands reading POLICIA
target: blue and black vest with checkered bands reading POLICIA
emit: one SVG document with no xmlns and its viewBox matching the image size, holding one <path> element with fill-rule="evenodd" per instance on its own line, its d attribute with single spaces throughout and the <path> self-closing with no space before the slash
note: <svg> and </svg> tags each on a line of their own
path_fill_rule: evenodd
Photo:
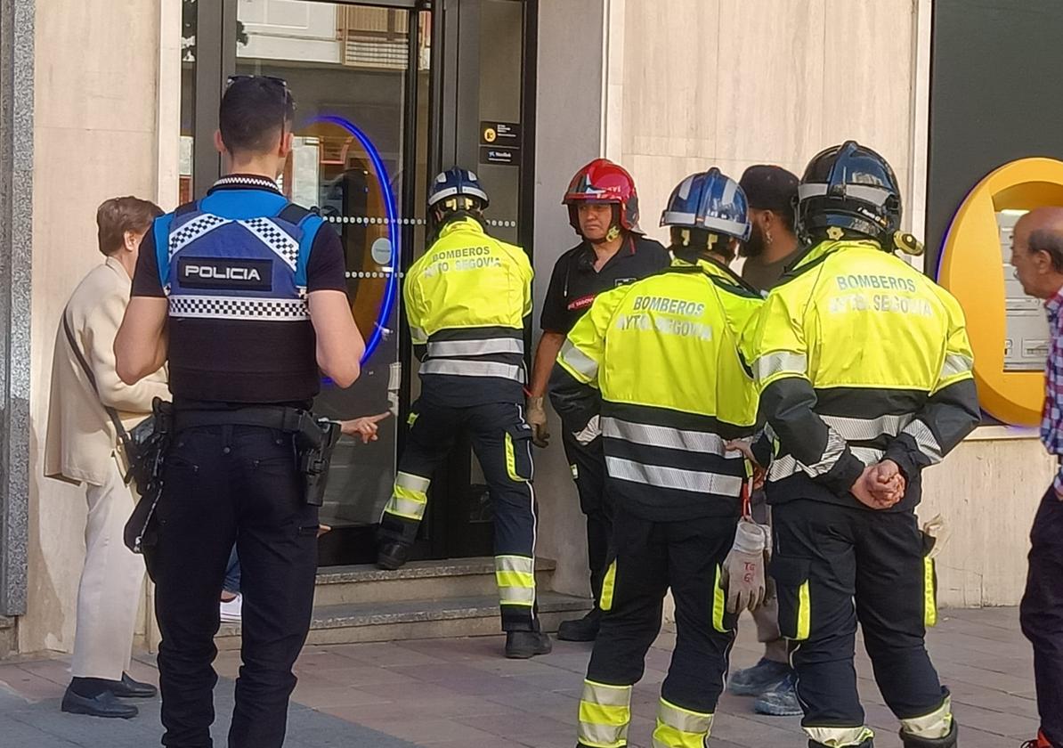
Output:
<svg viewBox="0 0 1063 748">
<path fill-rule="evenodd" d="M 157 219 L 175 401 L 297 403 L 320 389 L 306 266 L 322 219 L 272 189 L 216 189 Z"/>
</svg>

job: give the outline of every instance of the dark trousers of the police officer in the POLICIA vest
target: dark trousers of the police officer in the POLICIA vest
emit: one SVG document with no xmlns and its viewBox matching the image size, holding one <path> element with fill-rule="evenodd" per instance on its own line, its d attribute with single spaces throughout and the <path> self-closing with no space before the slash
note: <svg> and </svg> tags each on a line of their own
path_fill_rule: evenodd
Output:
<svg viewBox="0 0 1063 748">
<path fill-rule="evenodd" d="M 213 745 L 214 635 L 235 541 L 243 664 L 229 745 L 279 748 L 317 573 L 318 510 L 303 502 L 292 437 L 250 426 L 188 428 L 175 436 L 164 477 L 155 560 L 163 745 Z"/>
</svg>

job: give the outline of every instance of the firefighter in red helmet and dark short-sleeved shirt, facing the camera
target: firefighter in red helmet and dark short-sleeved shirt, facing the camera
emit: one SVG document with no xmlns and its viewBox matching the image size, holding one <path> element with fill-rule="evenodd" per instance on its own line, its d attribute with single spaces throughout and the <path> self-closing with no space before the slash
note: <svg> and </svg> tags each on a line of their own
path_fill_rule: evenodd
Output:
<svg viewBox="0 0 1063 748">
<path fill-rule="evenodd" d="M 543 397 L 554 361 L 572 325 L 598 293 L 644 278 L 669 265 L 668 250 L 639 228 L 638 192 L 635 181 L 623 167 L 595 158 L 572 177 L 562 204 L 568 206 L 569 223 L 581 241 L 557 259 L 543 303 L 542 337 L 528 387 L 528 423 L 538 446 L 545 446 L 550 438 Z M 602 594 L 612 536 L 602 440 L 580 444 L 569 429 L 562 428 L 561 443 L 579 494 L 579 508 L 587 515 L 587 561 L 591 593 L 596 601 Z M 585 617 L 563 622 L 557 638 L 569 642 L 593 641 L 601 616 L 602 611 L 595 605 Z"/>
</svg>

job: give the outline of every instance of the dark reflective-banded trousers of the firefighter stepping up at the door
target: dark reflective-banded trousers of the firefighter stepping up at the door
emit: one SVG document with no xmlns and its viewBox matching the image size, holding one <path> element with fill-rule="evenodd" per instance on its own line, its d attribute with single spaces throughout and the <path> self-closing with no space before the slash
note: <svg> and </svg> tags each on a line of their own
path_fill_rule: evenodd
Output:
<svg viewBox="0 0 1063 748">
<path fill-rule="evenodd" d="M 494 504 L 494 574 L 505 631 L 538 631 L 535 589 L 536 505 L 532 428 L 516 403 L 468 408 L 420 400 L 399 460 L 394 491 L 381 520 L 382 540 L 412 543 L 428 503 L 432 475 L 455 437 L 468 432 Z"/>
</svg>

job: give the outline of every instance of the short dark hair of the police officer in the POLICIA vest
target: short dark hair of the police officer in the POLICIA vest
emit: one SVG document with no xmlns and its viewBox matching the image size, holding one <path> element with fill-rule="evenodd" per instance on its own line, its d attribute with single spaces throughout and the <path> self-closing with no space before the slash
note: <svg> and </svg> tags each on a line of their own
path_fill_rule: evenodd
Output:
<svg viewBox="0 0 1063 748">
<path fill-rule="evenodd" d="M 296 114 L 296 101 L 280 79 L 265 75 L 240 76 L 221 97 L 218 130 L 230 153 L 266 153 L 281 142 Z"/>
</svg>

